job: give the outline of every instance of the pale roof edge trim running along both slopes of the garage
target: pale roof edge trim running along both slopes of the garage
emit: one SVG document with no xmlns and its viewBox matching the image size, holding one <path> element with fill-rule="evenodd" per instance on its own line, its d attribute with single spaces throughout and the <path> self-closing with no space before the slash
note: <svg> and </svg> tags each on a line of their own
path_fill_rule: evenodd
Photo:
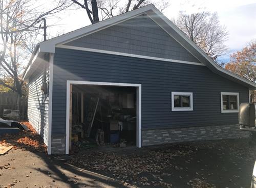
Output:
<svg viewBox="0 0 256 188">
<path fill-rule="evenodd" d="M 180 29 L 178 29 L 172 21 L 165 17 L 155 6 L 148 5 L 103 21 L 95 23 L 93 25 L 72 31 L 70 33 L 52 38 L 50 40 L 37 44 L 33 56 L 30 59 L 30 63 L 24 74 L 24 79 L 28 79 L 30 76 L 31 67 L 33 62 L 39 57 L 42 57 L 44 53 L 55 53 L 55 47 L 61 46 L 69 41 L 78 39 L 80 37 L 90 35 L 97 31 L 103 30 L 114 26 L 120 22 L 137 17 L 141 14 L 146 14 L 153 21 L 157 23 L 166 33 L 172 36 L 177 42 L 179 42 L 188 52 L 193 54 L 200 62 L 205 64 L 212 72 L 219 74 L 229 80 L 240 83 L 250 89 L 255 89 L 256 84 L 242 78 L 234 73 L 219 66 L 214 60 L 206 55 L 193 41 L 191 41 Z M 30 73 L 30 74 L 29 74 Z"/>
</svg>

